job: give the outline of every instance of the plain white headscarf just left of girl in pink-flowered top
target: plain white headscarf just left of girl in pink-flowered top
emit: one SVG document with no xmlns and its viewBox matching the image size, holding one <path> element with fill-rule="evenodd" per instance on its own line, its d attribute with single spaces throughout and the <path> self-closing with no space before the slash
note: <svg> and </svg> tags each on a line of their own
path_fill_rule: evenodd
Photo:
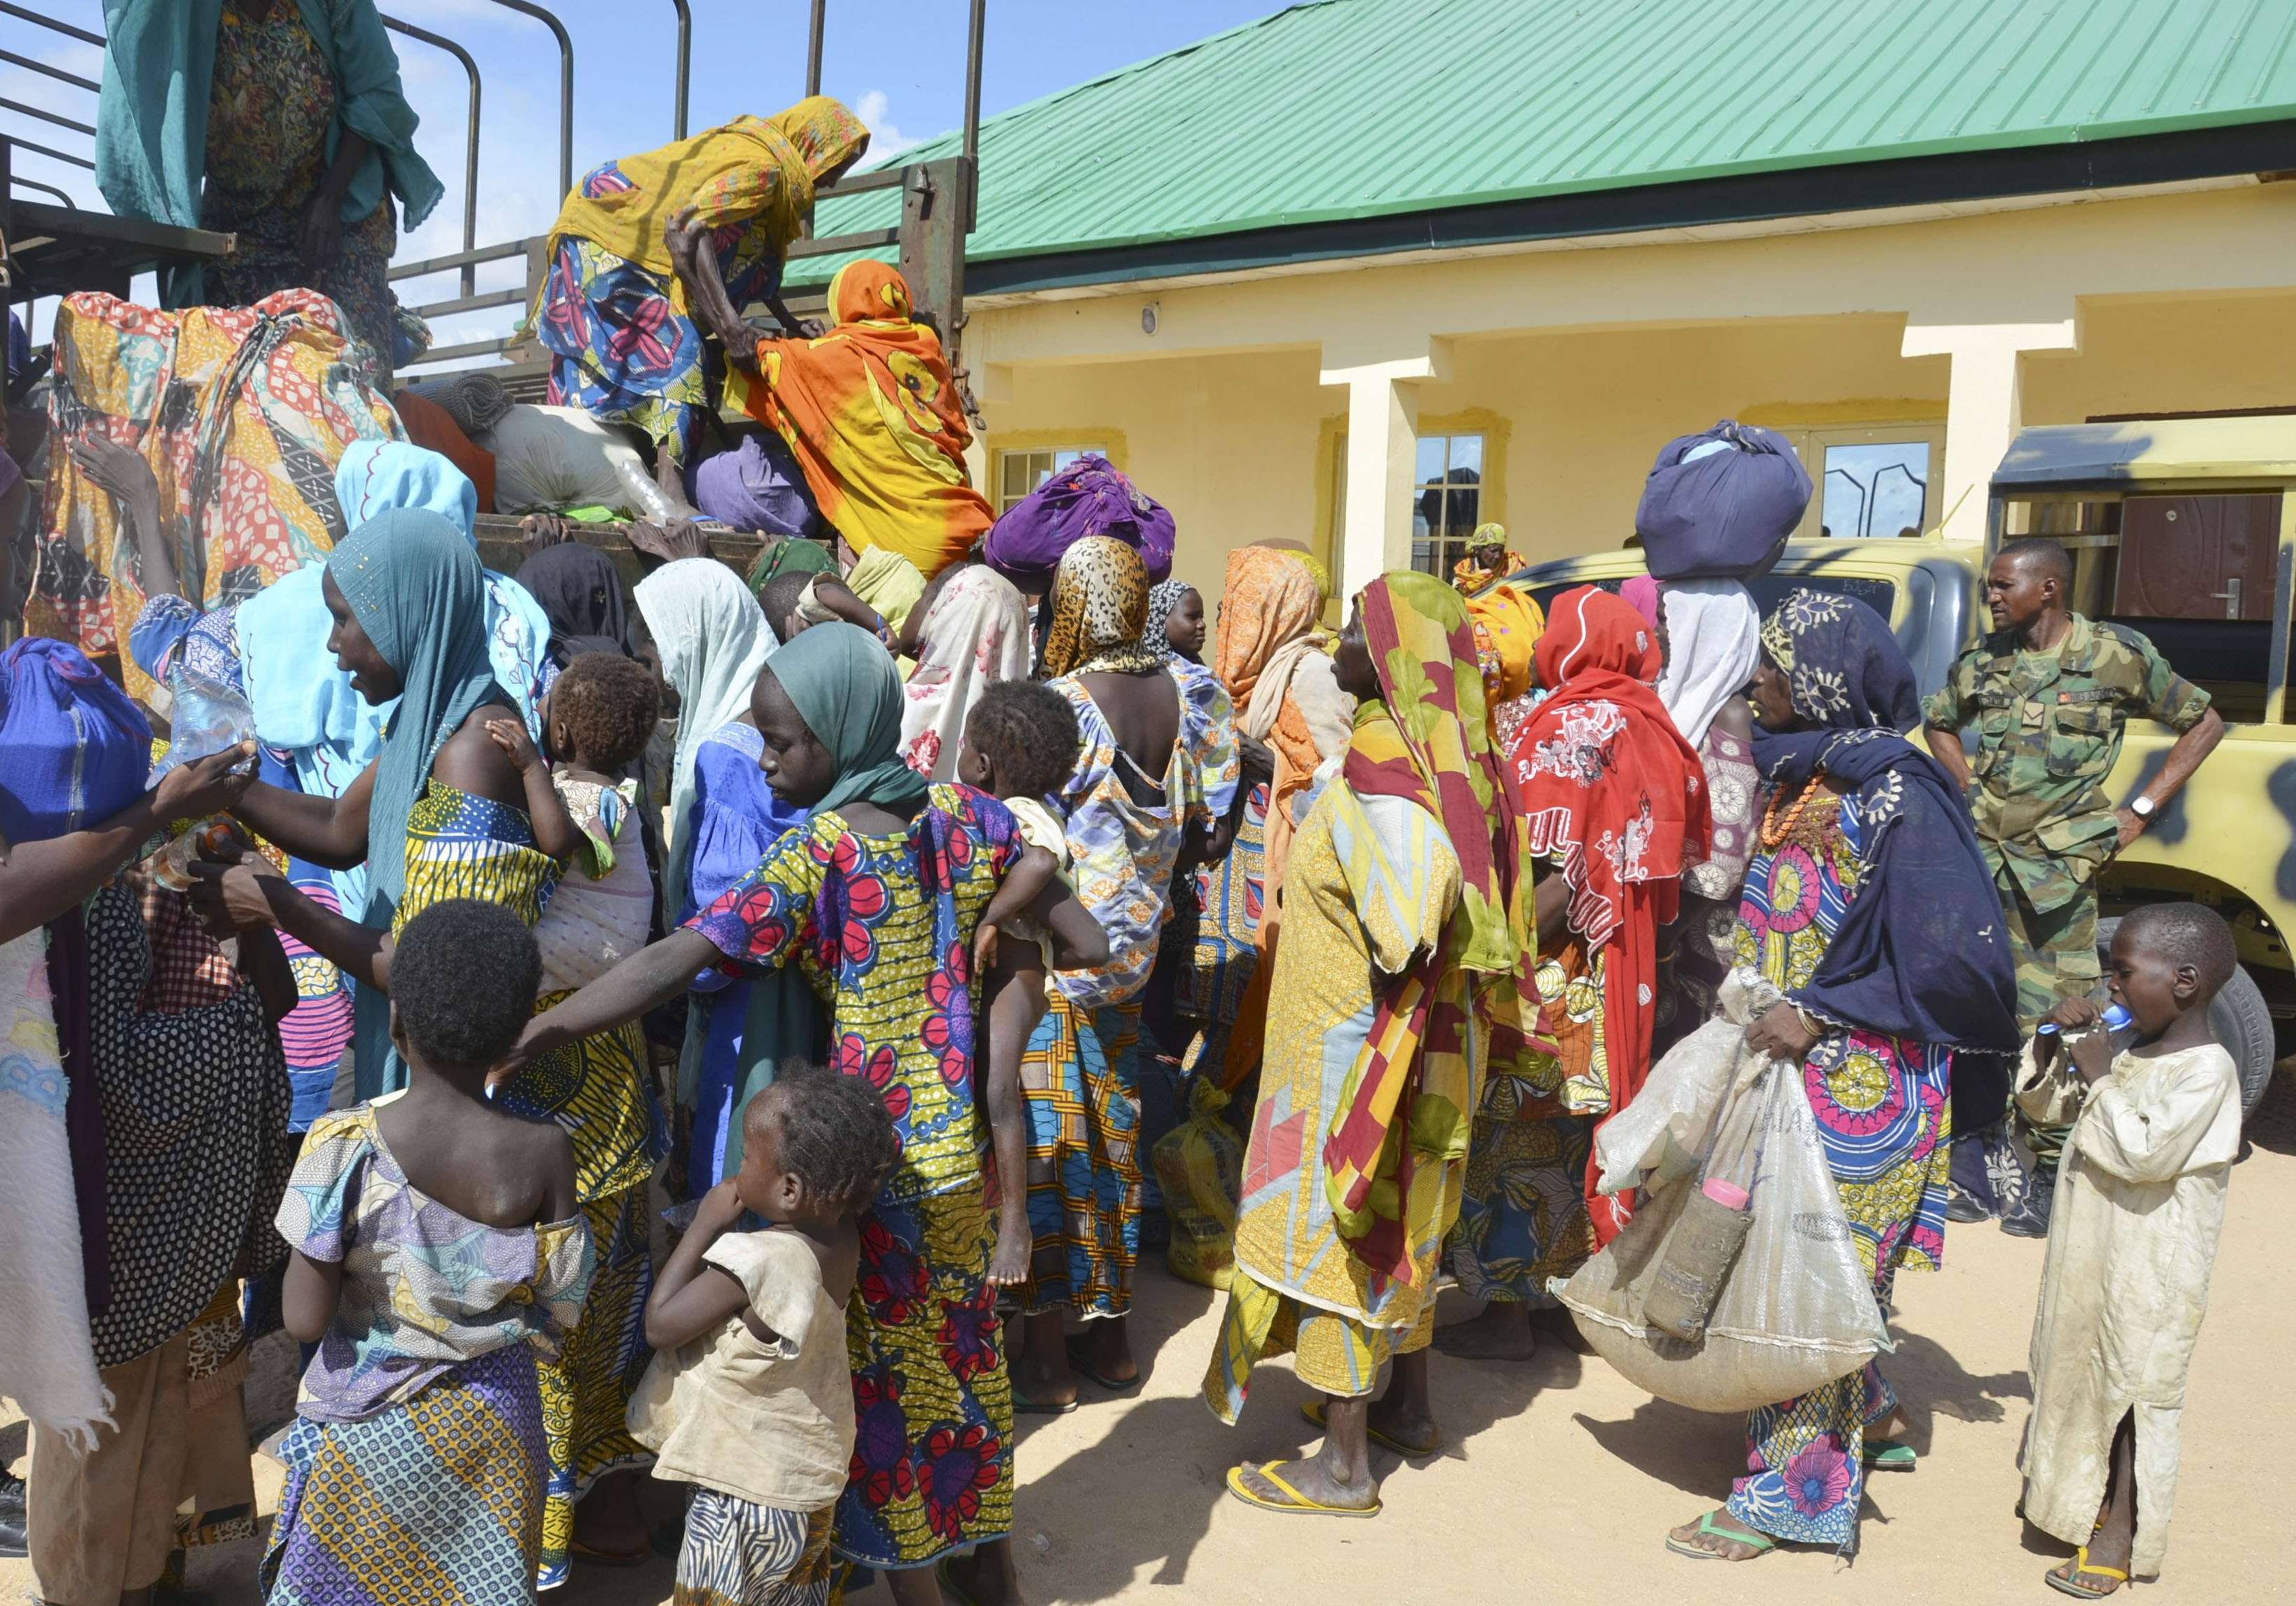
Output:
<svg viewBox="0 0 2296 1606">
<path fill-rule="evenodd" d="M 719 730 L 748 714 L 758 672 L 781 640 L 742 578 L 716 558 L 680 558 L 638 580 L 638 615 L 677 691 L 677 759 L 670 769 L 666 902 L 677 904 L 693 858 L 693 759 Z"/>
</svg>

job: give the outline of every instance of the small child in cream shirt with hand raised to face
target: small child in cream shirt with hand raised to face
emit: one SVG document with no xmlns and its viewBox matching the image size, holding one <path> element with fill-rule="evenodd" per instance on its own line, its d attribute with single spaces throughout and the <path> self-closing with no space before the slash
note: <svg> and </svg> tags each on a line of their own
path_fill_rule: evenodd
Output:
<svg viewBox="0 0 2296 1606">
<path fill-rule="evenodd" d="M 742 1170 L 703 1195 L 645 1305 L 629 1432 L 654 1478 L 696 1484 L 673 1606 L 822 1606 L 854 1452 L 859 1216 L 900 1145 L 868 1083 L 822 1069 L 785 1069 L 742 1133 Z"/>
</svg>

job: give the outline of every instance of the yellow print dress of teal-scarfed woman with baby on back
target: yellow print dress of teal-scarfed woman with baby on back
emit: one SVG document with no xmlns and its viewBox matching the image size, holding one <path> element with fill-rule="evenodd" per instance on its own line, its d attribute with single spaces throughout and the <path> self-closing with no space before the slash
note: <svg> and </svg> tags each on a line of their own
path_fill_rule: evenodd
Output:
<svg viewBox="0 0 2296 1606">
<path fill-rule="evenodd" d="M 535 847 L 526 810 L 434 780 L 406 817 L 406 897 L 393 934 L 448 897 L 478 897 L 540 925 L 558 876 L 558 860 Z M 535 1012 L 563 998 L 546 993 Z M 574 1505 L 606 1473 L 652 1459 L 622 1418 L 654 1356 L 645 1344 L 645 1296 L 654 1287 L 645 1184 L 666 1145 L 636 1023 L 533 1060 L 494 1099 L 565 1129 L 574 1145 L 574 1195 L 595 1248 L 581 1322 L 540 1367 L 551 1452 L 540 1583 L 553 1588 L 567 1576 Z"/>
</svg>

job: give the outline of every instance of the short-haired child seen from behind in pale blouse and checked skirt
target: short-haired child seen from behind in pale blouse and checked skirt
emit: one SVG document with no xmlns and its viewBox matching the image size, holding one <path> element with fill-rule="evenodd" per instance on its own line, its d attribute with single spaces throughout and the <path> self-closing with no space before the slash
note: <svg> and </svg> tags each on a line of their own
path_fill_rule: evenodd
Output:
<svg viewBox="0 0 2296 1606">
<path fill-rule="evenodd" d="M 535 1599 L 535 1363 L 581 1317 L 592 1266 L 574 1145 L 484 1094 L 540 977 L 512 911 L 418 913 L 390 961 L 406 1087 L 303 1140 L 278 1230 L 287 1331 L 317 1354 L 280 1445 L 271 1606 Z"/>
</svg>

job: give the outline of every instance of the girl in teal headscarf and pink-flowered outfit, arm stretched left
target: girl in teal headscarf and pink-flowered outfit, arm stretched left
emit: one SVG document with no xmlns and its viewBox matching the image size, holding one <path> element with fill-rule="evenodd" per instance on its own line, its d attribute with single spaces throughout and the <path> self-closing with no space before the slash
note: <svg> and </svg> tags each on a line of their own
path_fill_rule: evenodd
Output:
<svg viewBox="0 0 2296 1606">
<path fill-rule="evenodd" d="M 1054 863 L 1022 847 L 996 798 L 900 762 L 900 681 L 866 631 L 806 629 L 758 677 L 751 711 L 758 766 L 810 810 L 808 826 L 682 929 L 537 1016 L 512 1065 L 636 1019 L 705 964 L 804 966 L 833 1014 L 833 1067 L 875 1087 L 900 1133 L 900 1163 L 861 1218 L 847 1308 L 859 1450 L 833 1549 L 884 1569 L 905 1606 L 937 1599 L 939 1562 L 974 1601 L 1001 1606 L 1015 1599 L 1013 1400 L 987 1280 L 974 970 L 985 929 L 1035 904 Z M 1070 929 L 1068 913 L 1049 925 Z M 1061 954 L 1077 959 L 1088 952 Z"/>
</svg>

